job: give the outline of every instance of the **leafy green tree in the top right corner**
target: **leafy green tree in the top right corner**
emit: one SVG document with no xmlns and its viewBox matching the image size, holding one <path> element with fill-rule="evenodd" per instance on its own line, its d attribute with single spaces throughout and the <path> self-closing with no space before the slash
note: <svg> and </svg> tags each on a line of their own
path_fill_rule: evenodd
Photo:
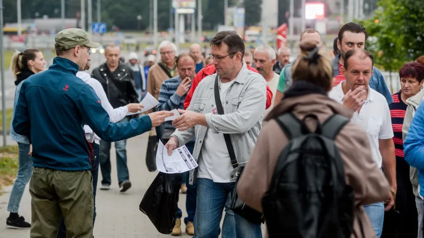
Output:
<svg viewBox="0 0 424 238">
<path fill-rule="evenodd" d="M 367 49 L 385 70 L 397 71 L 424 54 L 424 9 L 420 5 L 415 0 L 381 0 L 374 17 L 362 22 L 371 36 Z"/>
</svg>

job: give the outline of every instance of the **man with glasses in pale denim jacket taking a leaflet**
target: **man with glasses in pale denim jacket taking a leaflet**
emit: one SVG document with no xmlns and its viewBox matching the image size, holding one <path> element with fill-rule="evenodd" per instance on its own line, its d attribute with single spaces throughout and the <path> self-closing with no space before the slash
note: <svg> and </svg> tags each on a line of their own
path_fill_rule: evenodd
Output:
<svg viewBox="0 0 424 238">
<path fill-rule="evenodd" d="M 219 32 L 210 42 L 216 74 L 204 78 L 194 91 L 187 111 L 172 121 L 177 130 L 166 147 L 168 153 L 196 137 L 193 157 L 199 167 L 190 171 L 190 184 L 197 177 L 195 237 L 218 237 L 222 211 L 236 185 L 236 171 L 224 141 L 230 134 L 239 166 L 248 163 L 261 129 L 266 102 L 265 79 L 243 63 L 245 45 L 235 31 Z M 218 115 L 214 86 L 218 79 L 224 115 Z M 237 164 L 236 163 L 236 164 Z M 235 214 L 238 238 L 261 237 L 260 225 Z M 225 231 L 223 231 L 223 234 Z M 224 235 L 223 235 L 224 237 Z"/>
</svg>

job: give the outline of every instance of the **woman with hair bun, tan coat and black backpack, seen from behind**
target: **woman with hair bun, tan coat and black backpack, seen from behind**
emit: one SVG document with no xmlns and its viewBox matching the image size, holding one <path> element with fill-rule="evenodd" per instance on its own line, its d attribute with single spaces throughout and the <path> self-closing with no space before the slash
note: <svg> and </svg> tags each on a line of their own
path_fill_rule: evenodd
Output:
<svg viewBox="0 0 424 238">
<path fill-rule="evenodd" d="M 390 189 L 387 179 L 371 157 L 365 131 L 348 121 L 353 111 L 327 95 L 334 80 L 332 63 L 327 54 L 320 52 L 312 42 L 300 44 L 300 49 L 300 55 L 293 64 L 293 84 L 284 93 L 281 103 L 265 119 L 267 123 L 264 123 L 238 183 L 239 197 L 246 205 L 264 212 L 270 238 L 376 237 L 363 205 L 387 198 Z M 336 120 L 324 123 L 331 119 Z M 339 125 L 337 128 L 334 121 Z M 306 142 L 310 143 L 297 145 L 293 141 L 299 141 L 298 138 L 301 141 L 308 138 Z M 293 151 L 292 148 L 298 149 Z M 330 162 L 334 166 L 326 167 Z M 285 170 L 286 167 L 281 165 L 292 170 Z M 278 171 L 275 171 L 277 166 Z M 305 168 L 316 170 L 304 173 L 307 172 Z M 340 173 L 335 174 L 328 168 L 337 169 Z M 319 180 L 321 172 L 333 177 Z M 343 174 L 344 178 L 334 176 Z M 283 181 L 285 187 L 281 186 L 281 178 L 286 178 Z M 329 182 L 328 178 L 334 180 Z M 322 186 L 325 188 L 322 190 L 311 190 L 305 186 L 316 185 L 320 181 L 329 186 Z M 287 189 L 287 192 L 278 188 Z M 328 196 L 328 192 L 333 190 L 331 195 L 337 196 L 338 200 L 331 200 L 334 197 Z M 272 195 L 270 202 L 267 198 Z M 272 205 L 275 209 L 270 212 Z M 346 216 L 340 216 L 340 211 Z"/>
</svg>

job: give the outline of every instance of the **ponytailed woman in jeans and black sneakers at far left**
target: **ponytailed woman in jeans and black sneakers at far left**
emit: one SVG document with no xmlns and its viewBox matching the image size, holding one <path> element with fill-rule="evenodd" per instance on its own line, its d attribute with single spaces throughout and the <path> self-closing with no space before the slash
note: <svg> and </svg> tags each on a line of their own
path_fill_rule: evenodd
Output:
<svg viewBox="0 0 424 238">
<path fill-rule="evenodd" d="M 41 53 L 38 49 L 29 48 L 23 52 L 17 51 L 12 56 L 10 69 L 16 78 L 16 90 L 11 121 L 13 121 L 15 106 L 18 101 L 20 87 L 23 81 L 29 76 L 43 71 L 45 65 L 46 60 L 43 58 L 43 53 Z M 22 216 L 18 215 L 18 210 L 23 191 L 32 175 L 32 149 L 28 138 L 26 136 L 16 134 L 12 125 L 10 125 L 10 137 L 18 143 L 19 169 L 17 178 L 10 193 L 9 204 L 7 206 L 7 211 L 10 212 L 10 215 L 6 220 L 6 226 L 14 229 L 29 229 L 31 228 L 31 225 L 26 222 Z"/>
</svg>

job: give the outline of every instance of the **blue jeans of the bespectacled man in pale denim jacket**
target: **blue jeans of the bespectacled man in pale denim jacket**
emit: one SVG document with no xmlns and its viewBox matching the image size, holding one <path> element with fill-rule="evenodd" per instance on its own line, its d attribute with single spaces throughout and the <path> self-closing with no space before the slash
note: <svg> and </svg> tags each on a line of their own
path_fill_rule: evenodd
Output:
<svg viewBox="0 0 424 238">
<path fill-rule="evenodd" d="M 211 179 L 197 179 L 195 238 L 217 238 L 219 236 L 222 212 L 229 194 L 232 196 L 235 185 L 235 182 L 218 183 Z M 226 218 L 224 218 L 224 223 Z M 231 238 L 262 238 L 261 227 L 258 224 L 250 223 L 237 214 L 234 214 L 233 224 L 236 227 L 236 236 Z M 222 237 L 224 238 L 224 233 Z"/>
</svg>

